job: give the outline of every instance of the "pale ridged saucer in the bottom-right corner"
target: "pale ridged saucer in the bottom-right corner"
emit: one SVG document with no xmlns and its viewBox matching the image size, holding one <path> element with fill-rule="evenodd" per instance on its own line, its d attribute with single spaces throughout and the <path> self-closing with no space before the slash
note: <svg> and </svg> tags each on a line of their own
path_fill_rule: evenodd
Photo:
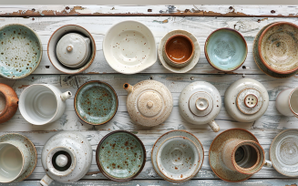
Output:
<svg viewBox="0 0 298 186">
<path fill-rule="evenodd" d="M 281 174 L 298 176 L 298 129 L 285 129 L 272 140 L 270 160 Z"/>
</svg>

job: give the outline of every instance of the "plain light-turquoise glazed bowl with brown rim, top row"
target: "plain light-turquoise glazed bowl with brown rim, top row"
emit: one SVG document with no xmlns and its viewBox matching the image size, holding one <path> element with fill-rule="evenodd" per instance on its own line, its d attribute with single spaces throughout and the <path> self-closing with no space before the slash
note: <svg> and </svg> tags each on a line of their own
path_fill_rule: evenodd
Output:
<svg viewBox="0 0 298 186">
<path fill-rule="evenodd" d="M 239 32 L 231 28 L 220 28 L 208 36 L 205 43 L 205 56 L 217 70 L 233 71 L 244 63 L 247 44 Z"/>
</svg>

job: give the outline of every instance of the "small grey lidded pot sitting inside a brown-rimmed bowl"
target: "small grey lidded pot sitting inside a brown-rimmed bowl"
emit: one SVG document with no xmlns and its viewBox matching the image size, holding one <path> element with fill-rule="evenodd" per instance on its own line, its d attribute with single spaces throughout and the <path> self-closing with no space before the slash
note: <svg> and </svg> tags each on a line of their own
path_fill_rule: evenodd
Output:
<svg viewBox="0 0 298 186">
<path fill-rule="evenodd" d="M 64 66 L 82 67 L 91 56 L 90 39 L 76 33 L 68 33 L 58 41 L 56 55 Z"/>
</svg>

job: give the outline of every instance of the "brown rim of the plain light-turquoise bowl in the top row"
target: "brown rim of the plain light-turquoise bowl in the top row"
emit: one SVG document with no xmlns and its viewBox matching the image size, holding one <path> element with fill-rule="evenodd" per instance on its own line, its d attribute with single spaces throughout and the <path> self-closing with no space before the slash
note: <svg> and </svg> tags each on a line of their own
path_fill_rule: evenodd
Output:
<svg viewBox="0 0 298 186">
<path fill-rule="evenodd" d="M 216 67 L 215 65 L 213 65 L 211 63 L 211 59 L 208 56 L 207 46 L 208 46 L 208 43 L 209 43 L 209 39 L 211 38 L 211 36 L 215 32 L 218 32 L 218 31 L 221 31 L 221 30 L 229 30 L 229 31 L 235 32 L 238 36 L 241 36 L 241 39 L 242 39 L 243 43 L 245 44 L 245 57 L 244 57 L 244 59 L 241 61 L 241 64 L 239 64 L 237 67 L 232 68 L 231 70 L 224 70 L 224 69 L 221 69 L 219 67 Z M 245 41 L 244 36 L 242 36 L 240 32 L 238 32 L 237 30 L 232 29 L 230 27 L 221 27 L 221 28 L 218 28 L 218 29 L 214 30 L 213 32 L 211 32 L 211 34 L 207 37 L 206 42 L 205 42 L 205 46 L 204 46 L 204 53 L 205 53 L 205 57 L 207 58 L 208 63 L 211 65 L 211 67 L 214 67 L 215 69 L 223 71 L 223 72 L 231 72 L 231 71 L 234 71 L 234 70 L 238 69 L 239 67 L 241 67 L 243 65 L 243 63 L 246 60 L 247 54 L 248 54 L 248 47 L 247 47 L 247 43 Z"/>
</svg>

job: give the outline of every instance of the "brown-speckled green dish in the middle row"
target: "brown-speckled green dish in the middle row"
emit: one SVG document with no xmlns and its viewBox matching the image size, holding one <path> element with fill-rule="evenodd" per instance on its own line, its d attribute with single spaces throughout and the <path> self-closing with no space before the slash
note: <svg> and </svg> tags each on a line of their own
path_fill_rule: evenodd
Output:
<svg viewBox="0 0 298 186">
<path fill-rule="evenodd" d="M 118 109 L 117 94 L 108 83 L 88 81 L 77 89 L 77 116 L 91 125 L 102 125 L 112 119 Z"/>
</svg>

